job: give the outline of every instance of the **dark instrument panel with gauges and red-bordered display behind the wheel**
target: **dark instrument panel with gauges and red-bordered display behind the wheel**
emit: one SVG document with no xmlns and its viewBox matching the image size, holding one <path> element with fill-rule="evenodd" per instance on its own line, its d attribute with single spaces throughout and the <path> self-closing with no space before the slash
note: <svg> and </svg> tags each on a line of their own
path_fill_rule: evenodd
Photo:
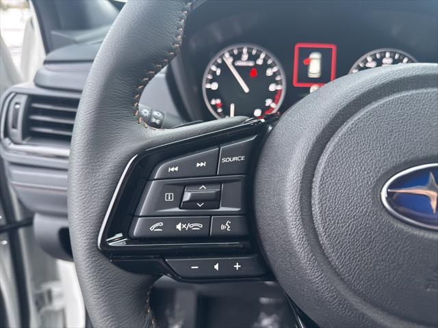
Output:
<svg viewBox="0 0 438 328">
<path fill-rule="evenodd" d="M 280 114 L 346 74 L 437 62 L 437 7 L 430 1 L 205 1 L 194 8 L 171 65 L 183 115 Z"/>
</svg>

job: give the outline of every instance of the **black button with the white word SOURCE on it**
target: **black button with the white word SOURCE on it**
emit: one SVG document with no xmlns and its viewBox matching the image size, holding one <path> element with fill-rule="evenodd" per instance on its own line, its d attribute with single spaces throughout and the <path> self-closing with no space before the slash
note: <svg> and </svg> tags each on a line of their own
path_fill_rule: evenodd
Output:
<svg viewBox="0 0 438 328">
<path fill-rule="evenodd" d="M 251 152 L 251 146 L 256 138 L 249 137 L 220 146 L 219 169 L 220 176 L 227 174 L 245 174 L 246 165 Z"/>
</svg>

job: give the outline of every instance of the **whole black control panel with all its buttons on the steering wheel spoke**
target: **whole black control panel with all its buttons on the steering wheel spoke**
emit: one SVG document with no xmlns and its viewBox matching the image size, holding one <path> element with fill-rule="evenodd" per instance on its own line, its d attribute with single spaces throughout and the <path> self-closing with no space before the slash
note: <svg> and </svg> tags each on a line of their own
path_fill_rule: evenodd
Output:
<svg viewBox="0 0 438 328">
<path fill-rule="evenodd" d="M 250 165 L 271 119 L 136 155 L 107 211 L 99 248 L 114 264 L 181 281 L 272 279 L 257 245 Z"/>
</svg>

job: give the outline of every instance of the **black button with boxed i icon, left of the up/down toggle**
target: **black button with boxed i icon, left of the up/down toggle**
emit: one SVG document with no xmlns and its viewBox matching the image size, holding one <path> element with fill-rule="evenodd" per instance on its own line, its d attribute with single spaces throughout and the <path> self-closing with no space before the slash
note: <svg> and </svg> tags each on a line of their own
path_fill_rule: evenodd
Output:
<svg viewBox="0 0 438 328">
<path fill-rule="evenodd" d="M 179 210 L 184 187 L 178 184 L 155 182 L 157 181 L 146 183 L 136 215 L 157 215 L 161 211 Z"/>
</svg>

